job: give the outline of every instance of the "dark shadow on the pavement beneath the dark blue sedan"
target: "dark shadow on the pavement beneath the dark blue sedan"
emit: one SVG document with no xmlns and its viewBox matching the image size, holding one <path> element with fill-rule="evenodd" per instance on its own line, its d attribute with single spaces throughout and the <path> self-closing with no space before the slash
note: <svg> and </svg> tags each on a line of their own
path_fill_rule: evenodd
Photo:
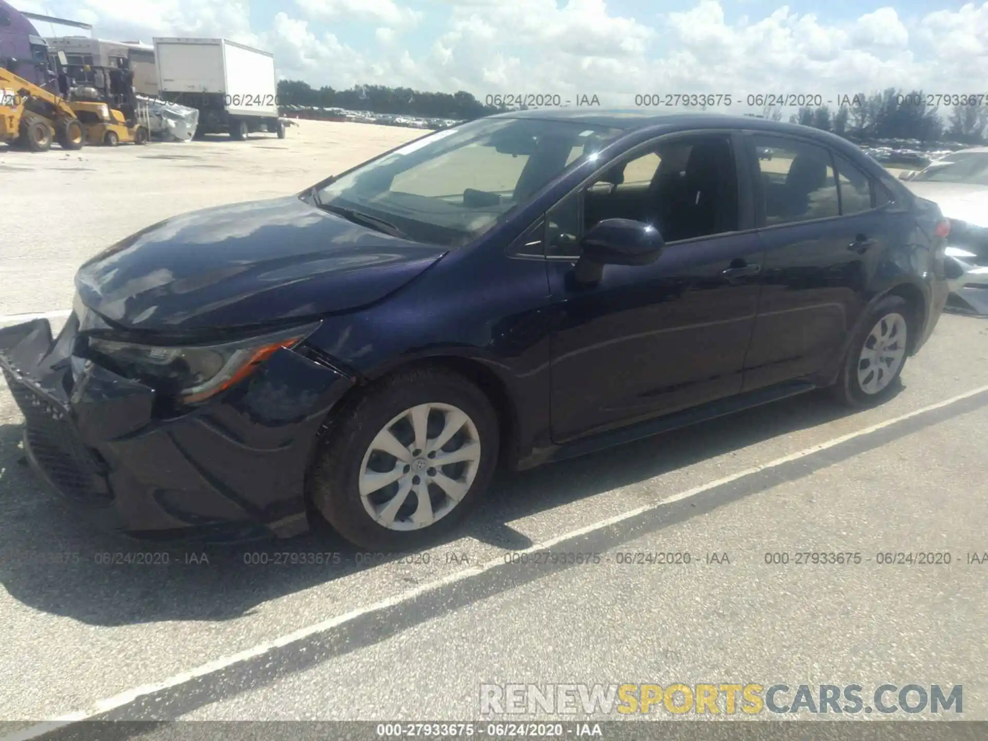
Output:
<svg viewBox="0 0 988 741">
<path fill-rule="evenodd" d="M 507 549 L 529 547 L 528 537 L 506 523 L 846 414 L 814 392 L 601 453 L 502 473 L 451 540 L 472 536 Z M 44 613 L 93 625 L 226 620 L 402 557 L 359 553 L 317 519 L 306 535 L 239 545 L 192 547 L 103 533 L 42 488 L 24 459 L 22 432 L 19 423 L 0 423 L 0 584 Z"/>
</svg>

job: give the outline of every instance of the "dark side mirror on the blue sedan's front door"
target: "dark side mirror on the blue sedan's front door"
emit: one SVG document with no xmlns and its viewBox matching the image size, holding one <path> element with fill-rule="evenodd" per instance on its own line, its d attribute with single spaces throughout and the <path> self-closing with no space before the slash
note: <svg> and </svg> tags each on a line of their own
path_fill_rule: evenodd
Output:
<svg viewBox="0 0 988 741">
<path fill-rule="evenodd" d="M 605 265 L 649 265 L 665 247 L 662 234 L 651 224 L 630 218 L 605 218 L 581 240 L 576 280 L 599 283 Z"/>
</svg>

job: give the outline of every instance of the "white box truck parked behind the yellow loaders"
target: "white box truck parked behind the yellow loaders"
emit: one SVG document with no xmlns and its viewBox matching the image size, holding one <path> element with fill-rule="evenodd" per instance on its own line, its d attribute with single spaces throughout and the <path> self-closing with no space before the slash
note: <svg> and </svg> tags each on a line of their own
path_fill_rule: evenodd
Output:
<svg viewBox="0 0 988 741">
<path fill-rule="evenodd" d="M 154 39 L 158 97 L 199 110 L 196 136 L 251 131 L 285 138 L 275 56 L 226 39 Z"/>
</svg>

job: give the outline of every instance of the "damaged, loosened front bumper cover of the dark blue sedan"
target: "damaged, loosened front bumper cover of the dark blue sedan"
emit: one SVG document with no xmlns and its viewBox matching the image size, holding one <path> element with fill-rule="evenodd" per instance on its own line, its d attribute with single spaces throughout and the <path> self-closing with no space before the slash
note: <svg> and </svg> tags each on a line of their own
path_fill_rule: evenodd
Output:
<svg viewBox="0 0 988 741">
<path fill-rule="evenodd" d="M 305 470 L 316 435 L 353 385 L 281 350 L 244 382 L 181 417 L 154 391 L 72 355 L 72 315 L 0 330 L 0 371 L 25 417 L 41 477 L 103 527 L 216 539 L 307 529 Z"/>
</svg>

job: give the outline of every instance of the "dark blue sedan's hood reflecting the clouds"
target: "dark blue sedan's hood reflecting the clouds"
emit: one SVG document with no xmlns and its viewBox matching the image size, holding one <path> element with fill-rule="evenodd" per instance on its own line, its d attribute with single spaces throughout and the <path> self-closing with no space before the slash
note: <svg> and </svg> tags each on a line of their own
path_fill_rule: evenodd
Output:
<svg viewBox="0 0 988 741">
<path fill-rule="evenodd" d="M 86 262 L 75 285 L 112 322 L 175 334 L 355 309 L 446 252 L 290 196 L 161 221 Z"/>
</svg>

